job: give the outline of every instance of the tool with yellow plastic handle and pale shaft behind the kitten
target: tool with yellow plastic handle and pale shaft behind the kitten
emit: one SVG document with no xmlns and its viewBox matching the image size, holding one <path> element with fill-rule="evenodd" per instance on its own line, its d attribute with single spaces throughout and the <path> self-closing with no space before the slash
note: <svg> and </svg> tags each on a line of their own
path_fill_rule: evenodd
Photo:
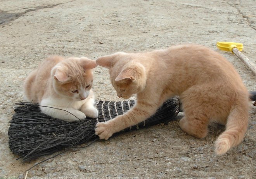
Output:
<svg viewBox="0 0 256 179">
<path fill-rule="evenodd" d="M 240 51 L 244 48 L 242 43 L 235 43 L 235 42 L 225 42 L 225 41 L 218 41 L 217 47 L 220 50 L 230 51 L 235 53 L 237 57 L 246 64 L 246 66 L 256 75 L 256 67 L 255 65 Z"/>
</svg>

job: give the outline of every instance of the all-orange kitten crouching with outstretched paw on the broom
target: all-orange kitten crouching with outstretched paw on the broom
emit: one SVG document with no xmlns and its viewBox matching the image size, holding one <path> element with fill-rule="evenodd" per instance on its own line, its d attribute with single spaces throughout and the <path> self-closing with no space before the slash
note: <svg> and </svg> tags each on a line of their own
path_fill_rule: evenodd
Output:
<svg viewBox="0 0 256 179">
<path fill-rule="evenodd" d="M 226 130 L 215 142 L 217 155 L 244 138 L 249 117 L 249 94 L 234 67 L 220 54 L 201 45 L 171 46 L 146 53 L 118 52 L 96 60 L 109 69 L 118 97 L 137 94 L 137 103 L 113 120 L 97 123 L 100 139 L 153 115 L 168 98 L 180 96 L 185 117 L 183 131 L 197 138 L 216 121 Z"/>
</svg>

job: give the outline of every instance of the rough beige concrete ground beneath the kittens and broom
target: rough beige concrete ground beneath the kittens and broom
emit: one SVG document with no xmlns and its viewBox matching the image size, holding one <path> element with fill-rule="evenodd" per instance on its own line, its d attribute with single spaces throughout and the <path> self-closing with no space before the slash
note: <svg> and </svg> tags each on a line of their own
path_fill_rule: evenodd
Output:
<svg viewBox="0 0 256 179">
<path fill-rule="evenodd" d="M 0 178 L 22 178 L 49 157 L 16 160 L 7 134 L 14 103 L 23 100 L 24 78 L 47 55 L 97 59 L 117 51 L 199 43 L 223 54 L 253 91 L 256 77 L 216 42 L 243 43 L 243 53 L 256 64 L 255 36 L 254 0 L 0 0 Z M 94 91 L 100 100 L 120 100 L 101 67 L 95 69 Z M 255 114 L 252 106 L 244 140 L 221 157 L 213 145 L 224 127 L 211 124 L 209 135 L 196 139 L 175 121 L 70 150 L 29 170 L 28 177 L 256 178 Z"/>
</svg>

